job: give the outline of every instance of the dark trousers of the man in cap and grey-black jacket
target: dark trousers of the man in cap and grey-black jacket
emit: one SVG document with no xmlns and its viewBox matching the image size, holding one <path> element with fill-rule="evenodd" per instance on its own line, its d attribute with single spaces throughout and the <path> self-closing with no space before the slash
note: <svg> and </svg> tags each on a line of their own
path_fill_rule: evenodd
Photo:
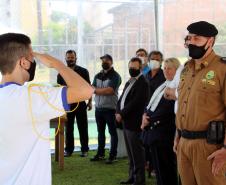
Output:
<svg viewBox="0 0 226 185">
<path fill-rule="evenodd" d="M 97 110 L 95 111 L 97 131 L 98 131 L 98 150 L 97 154 L 100 156 L 105 155 L 105 128 L 108 125 L 108 131 L 111 136 L 110 155 L 117 155 L 118 135 L 116 132 L 115 124 L 115 110 Z"/>
</svg>

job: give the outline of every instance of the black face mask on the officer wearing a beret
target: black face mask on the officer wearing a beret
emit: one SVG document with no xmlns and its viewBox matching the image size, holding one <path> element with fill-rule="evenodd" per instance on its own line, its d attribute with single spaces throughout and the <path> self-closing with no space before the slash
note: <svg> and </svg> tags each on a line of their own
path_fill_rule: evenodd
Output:
<svg viewBox="0 0 226 185">
<path fill-rule="evenodd" d="M 203 46 L 196 46 L 193 44 L 189 44 L 188 45 L 189 56 L 193 59 L 202 58 L 205 55 L 206 51 L 208 50 L 208 48 L 205 49 L 206 44 L 204 44 Z"/>
</svg>

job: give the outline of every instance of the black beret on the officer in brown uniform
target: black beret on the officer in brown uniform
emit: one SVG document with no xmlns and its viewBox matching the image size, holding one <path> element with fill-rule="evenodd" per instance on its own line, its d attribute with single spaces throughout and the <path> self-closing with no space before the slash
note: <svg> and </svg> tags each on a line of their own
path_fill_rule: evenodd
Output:
<svg viewBox="0 0 226 185">
<path fill-rule="evenodd" d="M 204 37 L 214 37 L 218 34 L 217 28 L 206 21 L 194 22 L 187 27 L 187 30 L 189 33 Z"/>
</svg>

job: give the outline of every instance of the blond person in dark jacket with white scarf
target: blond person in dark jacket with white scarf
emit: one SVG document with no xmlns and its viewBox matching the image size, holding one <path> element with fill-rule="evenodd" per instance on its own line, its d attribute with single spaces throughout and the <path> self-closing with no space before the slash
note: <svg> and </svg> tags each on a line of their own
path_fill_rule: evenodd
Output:
<svg viewBox="0 0 226 185">
<path fill-rule="evenodd" d="M 157 185 L 177 185 L 176 155 L 173 152 L 175 133 L 174 101 L 163 96 L 167 85 L 173 80 L 180 62 L 176 58 L 164 61 L 163 82 L 154 92 L 143 114 L 141 128 L 143 142 L 149 146 Z"/>
</svg>

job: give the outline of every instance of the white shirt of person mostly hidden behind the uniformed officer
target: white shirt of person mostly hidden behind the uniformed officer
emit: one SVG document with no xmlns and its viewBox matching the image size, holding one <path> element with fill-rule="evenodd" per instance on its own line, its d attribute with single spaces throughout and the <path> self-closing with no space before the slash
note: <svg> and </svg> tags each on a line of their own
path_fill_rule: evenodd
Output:
<svg viewBox="0 0 226 185">
<path fill-rule="evenodd" d="M 173 80 L 168 84 L 168 87 L 170 87 L 170 88 L 176 88 L 176 91 L 175 91 L 176 98 L 178 98 L 177 87 L 178 87 L 178 85 L 180 83 L 180 75 L 181 75 L 181 71 L 183 69 L 184 69 L 184 65 L 180 65 L 177 68 L 177 71 L 176 71 L 176 74 L 175 74 Z M 174 105 L 174 112 L 175 112 L 175 114 L 177 113 L 177 109 L 178 109 L 178 101 L 176 100 L 175 101 L 175 105 Z"/>
</svg>

